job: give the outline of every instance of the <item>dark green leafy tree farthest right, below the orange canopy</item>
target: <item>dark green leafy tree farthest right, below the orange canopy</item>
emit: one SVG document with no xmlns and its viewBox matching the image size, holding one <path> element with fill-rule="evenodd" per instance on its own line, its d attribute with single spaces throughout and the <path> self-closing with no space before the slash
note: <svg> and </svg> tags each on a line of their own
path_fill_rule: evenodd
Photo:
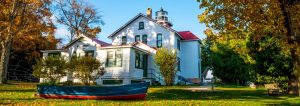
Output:
<svg viewBox="0 0 300 106">
<path fill-rule="evenodd" d="M 281 88 L 287 89 L 288 81 L 294 79 L 289 52 L 283 51 L 276 37 L 269 35 L 255 42 L 251 39 L 247 47 L 249 54 L 256 60 L 256 83 L 278 83 Z"/>
</svg>

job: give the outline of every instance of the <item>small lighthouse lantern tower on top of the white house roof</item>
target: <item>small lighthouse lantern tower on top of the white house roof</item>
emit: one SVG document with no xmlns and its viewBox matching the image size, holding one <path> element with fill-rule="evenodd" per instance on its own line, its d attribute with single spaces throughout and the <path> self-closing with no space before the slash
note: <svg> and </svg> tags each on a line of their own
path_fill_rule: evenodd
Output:
<svg viewBox="0 0 300 106">
<path fill-rule="evenodd" d="M 161 8 L 159 11 L 155 12 L 155 20 L 166 27 L 172 27 L 172 23 L 169 21 L 168 18 L 168 12 L 164 11 L 163 8 Z"/>
</svg>

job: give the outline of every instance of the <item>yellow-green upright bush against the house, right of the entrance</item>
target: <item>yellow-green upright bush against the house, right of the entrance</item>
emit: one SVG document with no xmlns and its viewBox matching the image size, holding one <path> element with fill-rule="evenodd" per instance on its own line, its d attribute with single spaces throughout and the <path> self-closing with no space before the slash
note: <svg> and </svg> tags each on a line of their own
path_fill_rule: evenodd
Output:
<svg viewBox="0 0 300 106">
<path fill-rule="evenodd" d="M 177 66 L 176 52 L 172 52 L 167 48 L 159 48 L 154 56 L 156 65 L 164 77 L 165 84 L 171 86 L 174 83 Z"/>
</svg>

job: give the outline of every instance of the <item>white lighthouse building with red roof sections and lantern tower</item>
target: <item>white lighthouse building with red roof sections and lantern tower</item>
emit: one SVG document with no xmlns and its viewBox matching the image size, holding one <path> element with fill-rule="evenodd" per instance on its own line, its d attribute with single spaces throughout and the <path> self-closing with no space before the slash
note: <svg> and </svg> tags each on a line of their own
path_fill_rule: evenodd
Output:
<svg viewBox="0 0 300 106">
<path fill-rule="evenodd" d="M 99 85 L 131 84 L 150 81 L 164 84 L 153 56 L 156 50 L 166 47 L 177 51 L 178 72 L 176 83 L 201 82 L 200 39 L 190 31 L 176 31 L 169 21 L 168 12 L 162 8 L 147 14 L 139 13 L 108 36 L 112 43 L 105 43 L 84 35 L 61 50 L 43 50 L 43 56 L 72 55 L 93 56 L 105 64 L 106 73 L 97 80 Z M 69 80 L 67 77 L 61 81 Z M 76 81 L 76 79 L 72 79 Z"/>
</svg>

